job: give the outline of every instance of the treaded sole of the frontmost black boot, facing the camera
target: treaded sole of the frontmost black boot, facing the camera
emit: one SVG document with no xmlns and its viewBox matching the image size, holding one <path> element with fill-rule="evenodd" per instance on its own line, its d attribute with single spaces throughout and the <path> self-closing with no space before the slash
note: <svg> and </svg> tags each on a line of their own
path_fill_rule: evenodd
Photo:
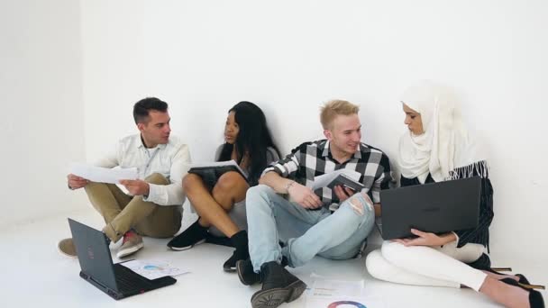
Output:
<svg viewBox="0 0 548 308">
<path fill-rule="evenodd" d="M 261 290 L 251 296 L 251 307 L 275 308 L 282 303 L 291 303 L 303 294 L 305 290 L 306 284 L 300 280 L 285 288 Z"/>
</svg>

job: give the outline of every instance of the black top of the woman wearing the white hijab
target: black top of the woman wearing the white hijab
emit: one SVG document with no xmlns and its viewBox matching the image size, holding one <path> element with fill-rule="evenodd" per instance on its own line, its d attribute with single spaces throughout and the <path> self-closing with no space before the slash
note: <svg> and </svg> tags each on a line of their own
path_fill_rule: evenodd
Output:
<svg viewBox="0 0 548 308">
<path fill-rule="evenodd" d="M 473 175 L 479 177 L 479 175 Z M 428 175 L 425 180 L 426 183 L 434 183 L 434 178 Z M 401 177 L 401 186 L 415 186 L 420 185 L 418 178 L 406 178 Z M 454 231 L 459 237 L 458 248 L 468 244 L 481 244 L 489 250 L 489 225 L 493 220 L 493 186 L 488 177 L 481 178 L 481 200 L 479 204 L 479 223 L 476 229 L 458 230 Z M 489 257 L 487 255 L 481 256 L 477 261 L 470 264 L 472 267 L 485 268 L 490 266 Z"/>
</svg>

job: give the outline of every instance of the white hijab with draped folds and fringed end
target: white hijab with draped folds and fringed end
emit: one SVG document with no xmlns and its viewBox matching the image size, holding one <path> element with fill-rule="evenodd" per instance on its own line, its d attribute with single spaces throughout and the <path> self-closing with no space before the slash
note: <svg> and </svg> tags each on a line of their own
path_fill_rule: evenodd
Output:
<svg viewBox="0 0 548 308">
<path fill-rule="evenodd" d="M 447 88 L 423 81 L 408 88 L 401 103 L 421 114 L 425 131 L 421 135 L 406 131 L 399 140 L 398 163 L 404 177 L 417 177 L 424 184 L 430 174 L 439 182 L 453 177 L 455 168 L 479 161 L 485 163 L 466 130 L 455 97 Z M 487 167 L 481 166 L 485 167 L 482 172 L 487 172 Z"/>
</svg>

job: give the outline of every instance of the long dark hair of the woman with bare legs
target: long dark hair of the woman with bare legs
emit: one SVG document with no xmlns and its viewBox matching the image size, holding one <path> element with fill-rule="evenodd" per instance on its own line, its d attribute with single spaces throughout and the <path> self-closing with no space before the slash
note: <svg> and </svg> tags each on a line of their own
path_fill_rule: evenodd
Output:
<svg viewBox="0 0 548 308">
<path fill-rule="evenodd" d="M 267 148 L 275 149 L 278 154 L 279 150 L 272 141 L 267 119 L 256 104 L 240 102 L 228 111 L 231 112 L 234 112 L 240 131 L 234 144 L 224 143 L 219 161 L 230 160 L 234 146 L 238 165 L 247 153 L 250 159 L 249 182 L 253 186 L 259 182 L 260 173 L 267 167 Z"/>
</svg>

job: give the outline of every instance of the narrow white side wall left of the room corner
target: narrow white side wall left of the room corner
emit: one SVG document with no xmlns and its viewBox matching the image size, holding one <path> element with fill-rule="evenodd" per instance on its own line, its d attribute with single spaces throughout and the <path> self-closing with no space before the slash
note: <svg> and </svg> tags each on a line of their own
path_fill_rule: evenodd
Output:
<svg viewBox="0 0 548 308">
<path fill-rule="evenodd" d="M 86 203 L 67 189 L 85 159 L 79 4 L 0 1 L 0 227 Z"/>
</svg>

